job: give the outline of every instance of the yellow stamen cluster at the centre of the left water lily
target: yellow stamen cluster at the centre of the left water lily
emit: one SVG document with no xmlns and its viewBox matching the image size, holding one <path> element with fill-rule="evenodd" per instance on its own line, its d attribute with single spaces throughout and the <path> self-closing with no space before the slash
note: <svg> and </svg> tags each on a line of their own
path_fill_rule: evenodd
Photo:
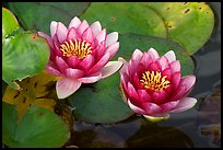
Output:
<svg viewBox="0 0 223 150">
<path fill-rule="evenodd" d="M 60 45 L 60 50 L 62 51 L 63 56 L 77 56 L 79 59 L 89 56 L 92 53 L 91 49 L 91 44 L 86 43 L 85 41 L 78 42 L 77 39 L 74 39 L 74 42 L 72 42 L 70 39 L 70 42 L 64 42 Z"/>
</svg>

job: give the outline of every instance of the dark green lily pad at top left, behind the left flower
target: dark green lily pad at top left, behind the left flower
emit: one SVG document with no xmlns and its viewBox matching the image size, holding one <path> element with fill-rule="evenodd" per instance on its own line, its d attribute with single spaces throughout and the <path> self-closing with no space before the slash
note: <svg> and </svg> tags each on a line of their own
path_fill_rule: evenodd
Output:
<svg viewBox="0 0 223 150">
<path fill-rule="evenodd" d="M 51 21 L 60 21 L 68 25 L 72 18 L 81 15 L 89 4 L 89 2 L 9 2 L 9 8 L 26 30 L 49 33 Z"/>
</svg>

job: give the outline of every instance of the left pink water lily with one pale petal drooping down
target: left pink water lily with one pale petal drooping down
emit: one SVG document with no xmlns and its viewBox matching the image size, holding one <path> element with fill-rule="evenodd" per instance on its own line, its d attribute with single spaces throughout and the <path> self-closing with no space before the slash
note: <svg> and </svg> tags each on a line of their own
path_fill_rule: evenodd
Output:
<svg viewBox="0 0 223 150">
<path fill-rule="evenodd" d="M 94 83 L 122 66 L 109 61 L 119 49 L 118 33 L 106 33 L 98 21 L 89 25 L 74 16 L 69 26 L 61 22 L 50 23 L 50 36 L 38 32 L 50 46 L 50 59 L 46 70 L 61 77 L 56 83 L 59 99 L 74 93 L 82 83 Z"/>
</svg>

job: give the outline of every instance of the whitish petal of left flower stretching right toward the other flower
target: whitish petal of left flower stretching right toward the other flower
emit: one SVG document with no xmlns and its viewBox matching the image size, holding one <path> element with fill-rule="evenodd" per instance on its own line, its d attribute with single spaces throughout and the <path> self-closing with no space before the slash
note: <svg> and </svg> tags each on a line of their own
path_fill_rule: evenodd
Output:
<svg viewBox="0 0 223 150">
<path fill-rule="evenodd" d="M 114 74 L 122 66 L 121 61 L 109 61 L 99 71 L 102 72 L 102 79 Z"/>
</svg>

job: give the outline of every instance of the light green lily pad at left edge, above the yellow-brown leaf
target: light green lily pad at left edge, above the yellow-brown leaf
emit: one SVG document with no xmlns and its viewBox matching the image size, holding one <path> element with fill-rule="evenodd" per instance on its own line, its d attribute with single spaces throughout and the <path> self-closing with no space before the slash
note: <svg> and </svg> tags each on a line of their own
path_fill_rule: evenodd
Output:
<svg viewBox="0 0 223 150">
<path fill-rule="evenodd" d="M 36 33 L 24 32 L 4 41 L 2 45 L 2 79 L 13 89 L 15 80 L 39 73 L 49 59 L 49 46 Z"/>
</svg>

